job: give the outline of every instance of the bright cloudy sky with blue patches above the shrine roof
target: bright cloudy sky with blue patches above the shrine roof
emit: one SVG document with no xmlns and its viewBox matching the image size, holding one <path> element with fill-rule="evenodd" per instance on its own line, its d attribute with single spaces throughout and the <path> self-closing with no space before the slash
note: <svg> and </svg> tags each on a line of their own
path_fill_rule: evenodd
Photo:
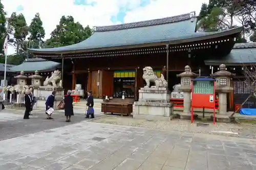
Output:
<svg viewBox="0 0 256 170">
<path fill-rule="evenodd" d="M 169 17 L 196 11 L 207 0 L 2 0 L 7 15 L 22 12 L 28 25 L 39 13 L 46 39 L 56 28 L 62 15 L 72 15 L 84 27 Z"/>
</svg>

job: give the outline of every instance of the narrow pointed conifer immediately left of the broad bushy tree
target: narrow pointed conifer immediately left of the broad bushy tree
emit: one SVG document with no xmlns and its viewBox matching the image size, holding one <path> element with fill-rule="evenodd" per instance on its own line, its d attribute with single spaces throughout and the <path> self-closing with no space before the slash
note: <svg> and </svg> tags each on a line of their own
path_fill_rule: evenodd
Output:
<svg viewBox="0 0 256 170">
<path fill-rule="evenodd" d="M 30 33 L 30 42 L 32 43 L 33 48 L 41 47 L 41 43 L 43 42 L 42 39 L 45 38 L 45 29 L 42 27 L 42 21 L 40 18 L 39 13 L 35 14 L 35 17 L 32 19 L 31 24 L 29 26 L 29 33 Z M 30 47 L 30 46 L 29 46 Z"/>
</svg>

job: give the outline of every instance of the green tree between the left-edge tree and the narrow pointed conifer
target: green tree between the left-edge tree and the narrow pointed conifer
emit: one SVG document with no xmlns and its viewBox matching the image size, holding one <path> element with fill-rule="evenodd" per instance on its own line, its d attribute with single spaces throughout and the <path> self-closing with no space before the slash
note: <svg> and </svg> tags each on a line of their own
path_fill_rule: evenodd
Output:
<svg viewBox="0 0 256 170">
<path fill-rule="evenodd" d="M 17 54 L 24 54 L 26 51 L 24 50 L 24 41 L 28 35 L 28 26 L 26 19 L 23 14 L 12 13 L 9 24 L 13 28 L 14 31 L 14 39 L 10 40 L 13 42 L 13 46 L 16 47 Z"/>
</svg>

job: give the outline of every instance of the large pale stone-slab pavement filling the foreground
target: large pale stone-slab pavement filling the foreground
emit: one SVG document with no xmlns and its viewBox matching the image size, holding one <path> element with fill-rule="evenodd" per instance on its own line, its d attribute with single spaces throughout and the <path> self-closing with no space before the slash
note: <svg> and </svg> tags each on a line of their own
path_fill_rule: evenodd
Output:
<svg viewBox="0 0 256 170">
<path fill-rule="evenodd" d="M 254 139 L 86 121 L 0 145 L 1 170 L 256 169 Z"/>
</svg>

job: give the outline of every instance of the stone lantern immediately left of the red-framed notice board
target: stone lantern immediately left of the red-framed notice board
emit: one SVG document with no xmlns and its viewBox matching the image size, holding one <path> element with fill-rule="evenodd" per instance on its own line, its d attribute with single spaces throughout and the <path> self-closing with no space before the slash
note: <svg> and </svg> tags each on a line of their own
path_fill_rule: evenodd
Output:
<svg viewBox="0 0 256 170">
<path fill-rule="evenodd" d="M 198 75 L 191 71 L 191 68 L 185 66 L 185 71 L 177 75 L 180 77 L 181 86 L 180 90 L 183 92 L 183 113 L 190 113 L 191 107 L 191 79 L 196 78 Z"/>
</svg>

